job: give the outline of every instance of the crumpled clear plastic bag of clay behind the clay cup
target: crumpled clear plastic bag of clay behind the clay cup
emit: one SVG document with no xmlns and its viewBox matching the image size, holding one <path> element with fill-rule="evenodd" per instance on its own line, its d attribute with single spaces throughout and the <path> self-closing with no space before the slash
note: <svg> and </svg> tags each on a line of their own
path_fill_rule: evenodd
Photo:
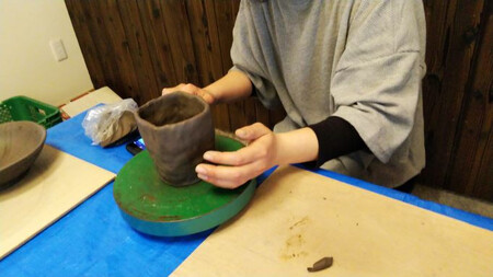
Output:
<svg viewBox="0 0 493 277">
<path fill-rule="evenodd" d="M 96 106 L 88 111 L 82 127 L 92 145 L 106 147 L 137 129 L 134 112 L 138 108 L 133 99 Z"/>
</svg>

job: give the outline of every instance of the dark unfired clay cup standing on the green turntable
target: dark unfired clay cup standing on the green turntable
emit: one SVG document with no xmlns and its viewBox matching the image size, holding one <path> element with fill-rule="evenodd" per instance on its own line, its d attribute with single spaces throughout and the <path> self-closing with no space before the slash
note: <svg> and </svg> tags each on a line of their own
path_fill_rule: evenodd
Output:
<svg viewBox="0 0 493 277">
<path fill-rule="evenodd" d="M 174 186 L 196 183 L 195 166 L 215 143 L 209 105 L 188 93 L 170 93 L 142 105 L 136 120 L 161 180 Z"/>
</svg>

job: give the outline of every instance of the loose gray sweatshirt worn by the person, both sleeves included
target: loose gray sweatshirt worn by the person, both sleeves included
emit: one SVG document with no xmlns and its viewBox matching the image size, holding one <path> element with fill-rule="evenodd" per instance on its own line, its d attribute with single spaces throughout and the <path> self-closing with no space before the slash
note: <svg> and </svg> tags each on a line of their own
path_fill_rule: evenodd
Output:
<svg viewBox="0 0 493 277">
<path fill-rule="evenodd" d="M 233 68 L 266 107 L 282 104 L 288 131 L 339 116 L 370 150 L 323 169 L 398 186 L 424 168 L 421 0 L 243 0 Z"/>
</svg>

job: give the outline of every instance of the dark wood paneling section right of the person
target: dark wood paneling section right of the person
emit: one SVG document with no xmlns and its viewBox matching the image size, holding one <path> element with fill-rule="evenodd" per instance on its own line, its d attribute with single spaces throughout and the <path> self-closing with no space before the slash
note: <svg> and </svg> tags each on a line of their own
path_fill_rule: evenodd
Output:
<svg viewBox="0 0 493 277">
<path fill-rule="evenodd" d="M 426 185 L 493 200 L 492 4 L 426 0 Z"/>
</svg>

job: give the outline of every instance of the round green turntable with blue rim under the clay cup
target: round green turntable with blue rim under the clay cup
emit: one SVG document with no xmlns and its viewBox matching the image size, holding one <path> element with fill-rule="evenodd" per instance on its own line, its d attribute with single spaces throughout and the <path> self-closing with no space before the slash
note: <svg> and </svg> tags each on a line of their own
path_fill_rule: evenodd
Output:
<svg viewBox="0 0 493 277">
<path fill-rule="evenodd" d="M 234 151 L 240 142 L 216 135 L 216 150 Z M 252 198 L 256 182 L 223 189 L 200 181 L 174 187 L 159 178 L 149 152 L 135 155 L 116 176 L 113 197 L 123 218 L 136 230 L 161 236 L 197 233 L 237 215 Z"/>
</svg>

